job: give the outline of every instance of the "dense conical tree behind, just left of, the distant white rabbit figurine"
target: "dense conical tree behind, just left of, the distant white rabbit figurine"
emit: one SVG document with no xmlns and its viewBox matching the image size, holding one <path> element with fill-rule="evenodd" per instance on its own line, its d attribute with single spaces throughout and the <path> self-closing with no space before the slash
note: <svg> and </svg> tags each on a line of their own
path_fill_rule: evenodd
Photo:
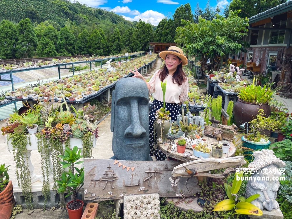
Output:
<svg viewBox="0 0 292 219">
<path fill-rule="evenodd" d="M 88 37 L 87 48 L 91 55 L 106 55 L 104 51 L 104 49 L 107 50 L 106 41 L 102 38 L 98 29 L 93 30 Z"/>
</svg>

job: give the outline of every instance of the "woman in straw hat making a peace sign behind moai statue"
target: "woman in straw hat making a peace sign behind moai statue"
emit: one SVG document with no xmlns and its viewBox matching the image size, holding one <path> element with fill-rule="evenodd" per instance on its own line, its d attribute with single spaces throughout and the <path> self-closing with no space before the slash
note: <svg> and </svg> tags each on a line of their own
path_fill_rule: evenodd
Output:
<svg viewBox="0 0 292 219">
<path fill-rule="evenodd" d="M 154 101 L 152 102 L 149 113 L 149 146 L 150 155 L 155 156 L 156 160 L 165 160 L 166 155 L 160 150 L 156 150 L 153 153 L 155 145 L 154 134 L 156 139 L 156 133 L 153 125 L 155 122 L 156 110 L 163 107 L 163 92 L 161 88 L 161 81 L 166 82 L 165 93 L 165 107 L 166 111 L 170 112 L 172 121 L 176 121 L 178 114 L 180 114 L 180 104 L 187 100 L 187 93 L 189 89 L 188 79 L 183 71 L 183 65 L 187 65 L 187 58 L 183 55 L 183 51 L 176 47 L 171 46 L 167 51 L 159 53 L 160 57 L 165 60 L 165 64 L 162 69 L 157 70 L 149 83 L 145 78 L 137 71 L 135 67 L 135 75 L 133 77 L 140 78 L 147 84 L 149 93 L 154 93 Z"/>
</svg>

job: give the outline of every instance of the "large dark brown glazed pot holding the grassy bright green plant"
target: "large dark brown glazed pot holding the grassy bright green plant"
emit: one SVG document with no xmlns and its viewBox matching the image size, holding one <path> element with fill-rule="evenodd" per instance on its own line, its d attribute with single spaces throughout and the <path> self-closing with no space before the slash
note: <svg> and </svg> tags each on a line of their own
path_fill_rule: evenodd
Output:
<svg viewBox="0 0 292 219">
<path fill-rule="evenodd" d="M 245 122 L 248 123 L 254 118 L 256 118 L 259 109 L 263 109 L 264 113 L 267 116 L 271 115 L 271 107 L 267 103 L 260 106 L 257 104 L 246 103 L 241 100 L 238 100 L 234 104 L 233 108 L 233 115 L 236 126 L 239 128 L 239 125 L 244 124 Z"/>
</svg>

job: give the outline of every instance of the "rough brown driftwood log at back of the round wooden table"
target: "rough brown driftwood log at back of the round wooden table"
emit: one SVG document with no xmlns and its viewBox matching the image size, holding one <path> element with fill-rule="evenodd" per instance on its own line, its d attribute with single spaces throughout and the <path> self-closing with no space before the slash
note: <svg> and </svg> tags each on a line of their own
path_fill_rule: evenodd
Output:
<svg viewBox="0 0 292 219">
<path fill-rule="evenodd" d="M 223 126 L 219 128 L 219 126 Z M 218 125 L 218 128 L 212 127 L 212 126 L 205 126 L 204 135 L 207 135 L 211 138 L 217 138 L 217 134 L 221 134 L 222 139 L 233 141 L 234 131 L 231 129 L 233 128 L 226 128 L 230 126 L 224 126 L 224 125 Z"/>
</svg>

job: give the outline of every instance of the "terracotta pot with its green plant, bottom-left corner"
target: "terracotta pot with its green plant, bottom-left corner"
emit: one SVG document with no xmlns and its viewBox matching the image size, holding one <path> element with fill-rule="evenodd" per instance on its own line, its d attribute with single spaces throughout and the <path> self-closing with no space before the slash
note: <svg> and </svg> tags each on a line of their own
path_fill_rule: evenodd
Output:
<svg viewBox="0 0 292 219">
<path fill-rule="evenodd" d="M 9 219 L 11 217 L 15 200 L 13 197 L 12 181 L 9 181 L 7 173 L 8 167 L 0 165 L 0 218 Z"/>
</svg>

